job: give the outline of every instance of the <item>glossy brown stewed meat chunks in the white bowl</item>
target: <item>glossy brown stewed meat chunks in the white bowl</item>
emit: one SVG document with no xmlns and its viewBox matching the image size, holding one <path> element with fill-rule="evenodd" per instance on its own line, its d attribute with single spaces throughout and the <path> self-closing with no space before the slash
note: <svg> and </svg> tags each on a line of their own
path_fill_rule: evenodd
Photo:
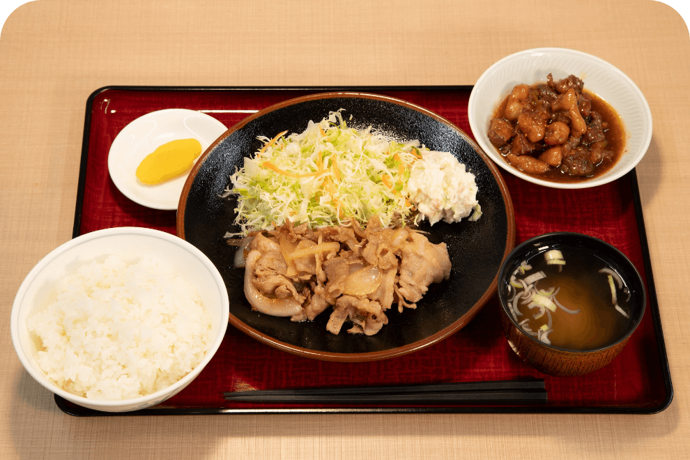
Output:
<svg viewBox="0 0 690 460">
<path fill-rule="evenodd" d="M 516 85 L 487 134 L 513 167 L 558 182 L 603 174 L 624 143 L 618 114 L 574 75 L 555 81 L 549 74 L 546 83 Z"/>
</svg>

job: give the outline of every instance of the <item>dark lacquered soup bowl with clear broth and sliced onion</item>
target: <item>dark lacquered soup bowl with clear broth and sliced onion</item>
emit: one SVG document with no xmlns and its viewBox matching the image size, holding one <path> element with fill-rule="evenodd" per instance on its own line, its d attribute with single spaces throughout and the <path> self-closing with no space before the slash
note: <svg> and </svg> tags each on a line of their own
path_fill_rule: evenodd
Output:
<svg viewBox="0 0 690 460">
<path fill-rule="evenodd" d="M 643 280 L 622 252 L 569 232 L 518 245 L 498 273 L 498 297 L 509 346 L 554 376 L 588 374 L 611 362 L 646 304 Z"/>
</svg>

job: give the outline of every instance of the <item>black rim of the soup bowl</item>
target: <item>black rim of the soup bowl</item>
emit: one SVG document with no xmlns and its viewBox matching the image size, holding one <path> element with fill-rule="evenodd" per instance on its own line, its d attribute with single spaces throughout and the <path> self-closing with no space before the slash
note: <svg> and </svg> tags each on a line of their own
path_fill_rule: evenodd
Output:
<svg viewBox="0 0 690 460">
<path fill-rule="evenodd" d="M 629 325 L 629 330 L 624 334 L 618 337 L 614 342 L 611 342 L 610 344 L 606 344 L 604 346 L 599 346 L 598 348 L 592 348 L 589 350 L 572 350 L 569 348 L 562 348 L 559 346 L 554 346 L 551 344 L 545 344 L 544 342 L 541 342 L 540 340 L 535 339 L 535 337 L 532 337 L 532 335 L 525 334 L 524 330 L 520 327 L 518 323 L 516 323 L 515 319 L 513 318 L 512 314 L 508 311 L 506 305 L 507 301 L 505 300 L 505 293 L 503 292 L 502 289 L 500 289 L 500 285 L 503 284 L 502 280 L 505 279 L 509 274 L 507 273 L 507 268 L 509 265 L 511 265 L 511 261 L 515 259 L 515 257 L 522 252 L 525 252 L 526 248 L 532 247 L 535 245 L 535 243 L 549 239 L 549 238 L 578 238 L 581 240 L 590 240 L 592 243 L 601 245 L 602 247 L 605 247 L 607 250 L 610 250 L 613 252 L 614 256 L 620 259 L 620 261 L 624 262 L 625 265 L 628 266 L 628 268 L 631 270 L 631 276 L 627 277 L 627 279 L 634 279 L 636 282 L 639 282 L 641 289 L 642 289 L 642 302 L 641 302 L 641 308 L 640 308 L 640 313 L 638 317 L 635 319 L 634 322 Z M 608 257 L 602 257 L 602 259 L 610 259 Z M 577 233 L 574 231 L 552 231 L 550 233 L 544 233 L 542 235 L 537 235 L 534 236 L 526 241 L 523 241 L 523 243 L 520 243 L 517 245 L 510 254 L 503 260 L 503 263 L 501 264 L 500 270 L 498 270 L 498 302 L 500 303 L 501 311 L 503 312 L 503 315 L 514 325 L 515 328 L 517 328 L 524 337 L 527 337 L 530 339 L 533 343 L 537 344 L 537 346 L 542 346 L 544 348 L 547 348 L 551 351 L 557 351 L 559 353 L 566 353 L 570 355 L 591 355 L 593 353 L 601 353 L 602 351 L 609 350 L 615 346 L 618 346 L 619 344 L 626 342 L 627 339 L 637 330 L 638 326 L 642 322 L 644 316 L 645 316 L 645 310 L 647 309 L 647 288 L 645 287 L 644 280 L 642 276 L 640 275 L 640 272 L 638 271 L 637 267 L 635 266 L 634 263 L 625 255 L 623 254 L 620 250 L 618 250 L 617 247 L 611 245 L 610 243 L 606 243 L 606 241 L 601 240 L 600 238 L 597 238 L 595 236 L 591 235 L 585 235 L 585 233 Z"/>
</svg>

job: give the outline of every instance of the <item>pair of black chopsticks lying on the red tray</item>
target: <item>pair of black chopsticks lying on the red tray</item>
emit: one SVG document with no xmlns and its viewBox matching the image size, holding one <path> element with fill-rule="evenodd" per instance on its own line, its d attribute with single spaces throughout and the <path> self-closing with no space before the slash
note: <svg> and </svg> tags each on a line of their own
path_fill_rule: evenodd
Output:
<svg viewBox="0 0 690 460">
<path fill-rule="evenodd" d="M 544 404 L 544 380 L 224 392 L 228 401 L 307 404 Z"/>
</svg>

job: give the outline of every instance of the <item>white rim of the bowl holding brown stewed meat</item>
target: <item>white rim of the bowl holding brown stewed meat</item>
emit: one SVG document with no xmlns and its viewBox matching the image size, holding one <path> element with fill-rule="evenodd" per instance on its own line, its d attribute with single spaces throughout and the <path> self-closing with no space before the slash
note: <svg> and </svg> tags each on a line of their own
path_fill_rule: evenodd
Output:
<svg viewBox="0 0 690 460">
<path fill-rule="evenodd" d="M 559 182 L 551 182 L 551 181 L 544 181 L 543 179 L 535 178 L 532 176 L 529 176 L 528 174 L 525 174 L 523 171 L 520 171 L 519 169 L 516 169 L 512 167 L 510 164 L 507 164 L 503 158 L 500 158 L 500 155 L 496 153 L 496 148 L 493 147 L 493 145 L 489 142 L 486 142 L 486 139 L 484 139 L 484 136 L 486 135 L 486 127 L 481 127 L 477 126 L 477 123 L 475 123 L 475 114 L 477 114 L 477 94 L 479 93 L 479 89 L 482 88 L 482 84 L 486 82 L 491 75 L 493 75 L 494 72 L 501 66 L 504 66 L 505 63 L 509 61 L 513 61 L 514 59 L 519 59 L 523 56 L 528 56 L 530 54 L 565 54 L 565 55 L 576 55 L 579 56 L 583 59 L 588 59 L 592 61 L 593 63 L 599 64 L 599 66 L 602 66 L 611 72 L 613 72 L 614 75 L 617 75 L 620 79 L 623 79 L 627 84 L 629 85 L 632 93 L 636 95 L 638 98 L 638 101 L 641 102 L 641 105 L 643 107 L 643 112 L 644 112 L 644 118 L 645 121 L 649 124 L 649 130 L 647 132 L 647 135 L 645 136 L 644 139 L 642 139 L 642 144 L 641 144 L 641 149 L 640 152 L 636 155 L 634 160 L 624 169 L 621 169 L 620 171 L 616 172 L 615 174 L 611 175 L 604 175 L 599 178 L 593 178 L 590 181 L 583 181 L 580 183 L 559 183 Z M 615 108 L 615 107 L 614 107 Z M 604 61 L 604 59 L 601 59 L 597 56 L 594 56 L 593 54 L 588 54 L 582 51 L 578 51 L 576 49 L 570 49 L 570 48 L 562 48 L 562 47 L 541 47 L 541 48 L 530 48 L 530 49 L 523 49 L 519 52 L 515 52 L 513 54 L 509 54 L 508 56 L 503 57 L 502 59 L 499 59 L 495 63 L 493 63 L 489 68 L 484 70 L 482 75 L 477 79 L 477 82 L 475 82 L 472 91 L 470 92 L 470 98 L 468 100 L 468 105 L 467 105 L 467 110 L 468 110 L 468 121 L 470 123 L 470 130 L 472 130 L 473 135 L 475 136 L 475 139 L 477 140 L 477 144 L 479 144 L 482 149 L 484 149 L 484 152 L 486 155 L 493 160 L 493 162 L 496 162 L 501 168 L 505 169 L 505 171 L 508 171 L 509 173 L 513 174 L 514 176 L 518 176 L 519 178 L 522 178 L 528 182 L 535 183 L 537 185 L 544 185 L 544 187 L 551 187 L 551 188 L 560 188 L 560 189 L 583 189 L 583 188 L 590 188 L 590 187 L 597 187 L 599 185 L 604 185 L 606 183 L 610 183 L 615 181 L 618 178 L 621 178 L 625 174 L 627 174 L 629 171 L 634 169 L 639 162 L 644 158 L 644 156 L 647 153 L 647 150 L 649 149 L 649 146 L 652 141 L 652 132 L 653 132 L 653 123 L 652 123 L 652 111 L 650 109 L 650 105 L 647 102 L 647 99 L 645 98 L 645 95 L 642 93 L 642 91 L 639 89 L 639 87 L 635 84 L 635 82 L 628 77 L 622 70 L 619 68 L 613 66 L 613 64 L 609 63 L 608 61 Z M 624 126 L 624 129 L 628 134 L 631 134 L 631 132 Z"/>
</svg>

